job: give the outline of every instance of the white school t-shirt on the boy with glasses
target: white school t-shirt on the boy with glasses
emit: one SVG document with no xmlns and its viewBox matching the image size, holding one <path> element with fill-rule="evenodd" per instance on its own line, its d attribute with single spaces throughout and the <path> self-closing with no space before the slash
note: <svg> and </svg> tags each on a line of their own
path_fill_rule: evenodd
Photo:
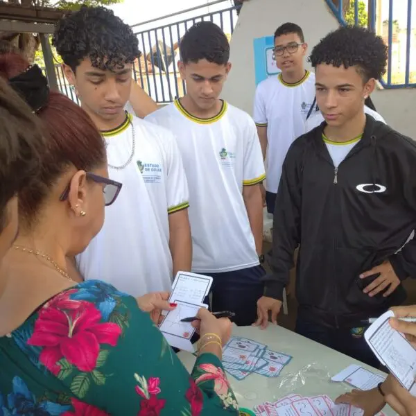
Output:
<svg viewBox="0 0 416 416">
<path fill-rule="evenodd" d="M 253 119 L 267 126 L 266 190 L 277 193 L 281 167 L 289 147 L 305 133 L 305 121 L 315 98 L 315 74 L 306 71 L 299 83 L 278 76 L 261 81 L 254 97 Z M 315 109 L 313 109 L 315 112 Z"/>
</svg>

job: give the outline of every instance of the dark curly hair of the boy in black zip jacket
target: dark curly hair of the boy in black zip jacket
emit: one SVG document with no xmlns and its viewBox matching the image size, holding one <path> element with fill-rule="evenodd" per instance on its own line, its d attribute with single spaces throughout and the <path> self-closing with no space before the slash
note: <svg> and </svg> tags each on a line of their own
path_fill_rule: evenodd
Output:
<svg viewBox="0 0 416 416">
<path fill-rule="evenodd" d="M 312 50 L 312 67 L 329 64 L 339 68 L 357 67 L 366 83 L 385 73 L 388 48 L 383 39 L 359 26 L 343 26 L 325 36 Z"/>
</svg>

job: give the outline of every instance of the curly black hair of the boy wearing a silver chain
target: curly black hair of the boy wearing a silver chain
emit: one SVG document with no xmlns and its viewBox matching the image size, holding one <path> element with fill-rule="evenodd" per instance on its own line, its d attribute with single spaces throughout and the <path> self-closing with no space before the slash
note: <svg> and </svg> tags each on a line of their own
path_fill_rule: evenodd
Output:
<svg viewBox="0 0 416 416">
<path fill-rule="evenodd" d="M 93 67 L 114 71 L 140 56 L 132 29 L 104 7 L 82 6 L 60 19 L 52 44 L 74 72 L 85 58 L 91 60 Z"/>
</svg>

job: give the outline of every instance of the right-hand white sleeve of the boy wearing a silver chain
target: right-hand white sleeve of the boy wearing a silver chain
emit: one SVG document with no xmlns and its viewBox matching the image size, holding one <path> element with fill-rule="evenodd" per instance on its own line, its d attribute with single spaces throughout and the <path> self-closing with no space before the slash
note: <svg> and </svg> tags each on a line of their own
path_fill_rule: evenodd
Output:
<svg viewBox="0 0 416 416">
<path fill-rule="evenodd" d="M 189 207 L 188 182 L 180 150 L 173 135 L 168 135 L 165 151 L 166 200 L 168 201 L 168 214 L 173 214 L 173 212 Z"/>
</svg>

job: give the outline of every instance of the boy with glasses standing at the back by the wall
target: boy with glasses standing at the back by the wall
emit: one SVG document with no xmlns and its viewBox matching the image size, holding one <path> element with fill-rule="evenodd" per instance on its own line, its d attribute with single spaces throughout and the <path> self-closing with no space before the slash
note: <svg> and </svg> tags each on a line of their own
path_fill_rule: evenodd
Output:
<svg viewBox="0 0 416 416">
<path fill-rule="evenodd" d="M 315 76 L 304 69 L 308 45 L 302 28 L 285 23 L 275 32 L 278 76 L 263 80 L 254 98 L 253 118 L 266 160 L 266 199 L 270 214 L 275 209 L 281 166 L 292 142 L 305 132 L 306 117 L 313 112 Z M 311 110 L 311 111 L 310 111 Z"/>
</svg>

